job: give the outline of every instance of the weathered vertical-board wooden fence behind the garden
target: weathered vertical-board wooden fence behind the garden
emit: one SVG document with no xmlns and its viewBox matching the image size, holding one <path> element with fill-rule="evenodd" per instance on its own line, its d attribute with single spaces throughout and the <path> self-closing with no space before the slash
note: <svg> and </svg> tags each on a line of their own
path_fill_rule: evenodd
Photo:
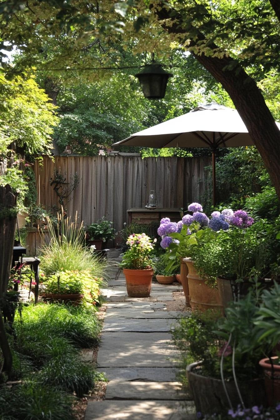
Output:
<svg viewBox="0 0 280 420">
<path fill-rule="evenodd" d="M 54 169 L 67 173 L 77 172 L 79 186 L 72 192 L 67 213 L 76 211 L 84 224 L 102 216 L 114 222 L 116 231 L 128 223 L 127 210 L 144 207 L 150 190 L 157 194 L 159 207 L 186 207 L 200 201 L 205 189 L 204 167 L 209 157 L 147 157 L 135 156 L 56 156 L 44 157 L 41 165 L 35 163 L 38 203 L 46 210 L 58 205 L 58 197 L 50 186 Z"/>
</svg>

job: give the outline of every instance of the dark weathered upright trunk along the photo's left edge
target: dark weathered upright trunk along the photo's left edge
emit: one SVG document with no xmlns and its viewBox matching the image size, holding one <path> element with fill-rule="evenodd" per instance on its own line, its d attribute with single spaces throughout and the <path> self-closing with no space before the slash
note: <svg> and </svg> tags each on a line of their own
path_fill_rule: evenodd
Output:
<svg viewBox="0 0 280 420">
<path fill-rule="evenodd" d="M 9 185 L 0 186 L 0 301 L 8 289 L 13 258 L 13 241 L 16 229 L 16 195 Z M 3 370 L 9 375 L 12 354 L 5 333 L 3 315 L 0 310 L 0 348 L 4 357 Z"/>
</svg>

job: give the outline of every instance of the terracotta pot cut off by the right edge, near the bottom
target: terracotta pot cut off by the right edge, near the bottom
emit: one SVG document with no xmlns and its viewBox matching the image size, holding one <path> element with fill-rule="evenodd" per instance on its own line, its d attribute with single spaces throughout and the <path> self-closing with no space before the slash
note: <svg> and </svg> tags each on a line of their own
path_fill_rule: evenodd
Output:
<svg viewBox="0 0 280 420">
<path fill-rule="evenodd" d="M 278 356 L 273 356 L 272 360 L 277 360 Z M 270 407 L 280 402 L 280 365 L 271 365 L 269 359 L 259 361 L 264 371 L 264 383 L 267 392 L 267 400 Z M 273 367 L 273 373 L 272 373 Z"/>
</svg>

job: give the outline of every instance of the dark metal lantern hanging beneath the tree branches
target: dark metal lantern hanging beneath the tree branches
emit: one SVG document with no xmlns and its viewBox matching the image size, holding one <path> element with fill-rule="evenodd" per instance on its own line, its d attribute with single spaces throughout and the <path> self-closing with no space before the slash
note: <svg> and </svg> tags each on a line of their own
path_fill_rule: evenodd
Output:
<svg viewBox="0 0 280 420">
<path fill-rule="evenodd" d="M 167 81 L 172 76 L 173 74 L 167 73 L 161 64 L 155 62 L 147 64 L 135 75 L 139 79 L 144 97 L 148 99 L 164 98 Z"/>
</svg>

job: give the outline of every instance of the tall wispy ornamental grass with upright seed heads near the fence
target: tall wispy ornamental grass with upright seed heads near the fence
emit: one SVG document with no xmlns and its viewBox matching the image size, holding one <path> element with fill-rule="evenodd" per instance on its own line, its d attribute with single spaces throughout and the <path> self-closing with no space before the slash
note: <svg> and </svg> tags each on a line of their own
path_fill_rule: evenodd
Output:
<svg viewBox="0 0 280 420">
<path fill-rule="evenodd" d="M 107 278 L 108 263 L 90 251 L 85 244 L 85 231 L 77 219 L 71 222 L 58 214 L 58 224 L 54 226 L 47 217 L 50 244 L 42 248 L 40 267 L 47 276 L 58 271 L 89 271 L 94 277 Z M 59 232 L 59 233 L 58 233 Z"/>
</svg>

